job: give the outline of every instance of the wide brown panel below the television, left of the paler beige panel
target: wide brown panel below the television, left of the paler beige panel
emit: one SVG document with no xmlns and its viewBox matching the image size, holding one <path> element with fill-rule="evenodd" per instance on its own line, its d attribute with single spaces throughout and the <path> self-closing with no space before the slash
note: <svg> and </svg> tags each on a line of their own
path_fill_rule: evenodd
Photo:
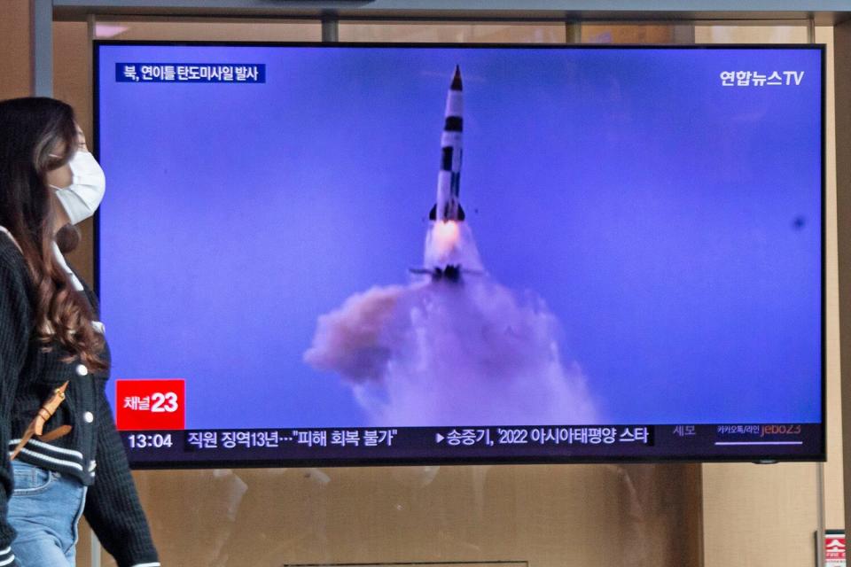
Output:
<svg viewBox="0 0 851 567">
<path fill-rule="evenodd" d="M 163 564 L 229 567 L 697 564 L 698 478 L 694 465 L 137 474 Z"/>
</svg>

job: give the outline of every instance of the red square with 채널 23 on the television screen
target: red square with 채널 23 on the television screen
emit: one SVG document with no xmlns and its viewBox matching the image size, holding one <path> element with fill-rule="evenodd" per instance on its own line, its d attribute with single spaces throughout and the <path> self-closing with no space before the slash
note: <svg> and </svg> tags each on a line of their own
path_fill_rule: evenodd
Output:
<svg viewBox="0 0 851 567">
<path fill-rule="evenodd" d="M 117 380 L 115 421 L 122 431 L 185 429 L 183 380 Z"/>
</svg>

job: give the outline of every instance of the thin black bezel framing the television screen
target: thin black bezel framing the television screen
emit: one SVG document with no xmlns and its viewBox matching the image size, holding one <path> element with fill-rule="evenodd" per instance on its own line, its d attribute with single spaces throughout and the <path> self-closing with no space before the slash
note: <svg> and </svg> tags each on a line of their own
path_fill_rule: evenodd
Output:
<svg viewBox="0 0 851 567">
<path fill-rule="evenodd" d="M 704 43 L 704 44 L 566 44 L 566 43 L 409 43 L 409 42 L 229 42 L 229 41 L 160 41 L 160 40 L 94 40 L 92 42 L 92 93 L 93 93 L 93 153 L 100 159 L 100 48 L 121 46 L 176 46 L 176 47 L 313 47 L 313 48 L 402 48 L 402 49 L 516 49 L 516 50 L 817 50 L 820 53 L 821 82 L 821 447 L 816 452 L 806 454 L 754 453 L 748 455 L 672 455 L 656 456 L 614 456 L 584 457 L 541 454 L 538 457 L 466 458 L 466 457 L 428 457 L 428 458 L 355 458 L 355 459 L 258 459 L 243 460 L 205 460 L 196 461 L 134 461 L 128 454 L 130 466 L 135 470 L 203 470 L 203 469 L 245 469 L 280 467 L 363 467 L 363 466 L 422 466 L 422 465 L 481 465 L 481 464 L 580 464 L 580 463 L 661 463 L 661 462 L 825 462 L 827 460 L 827 352 L 826 352 L 826 45 L 824 43 Z M 94 286 L 100 292 L 100 212 L 96 212 L 93 223 L 94 242 Z M 582 426 L 577 424 L 576 426 Z M 673 426 L 670 423 L 653 424 L 652 427 Z M 461 427 L 461 426 L 459 426 Z M 496 427 L 482 425 L 480 427 Z M 322 429 L 322 428 L 312 428 Z M 357 429 L 339 427 L 338 429 Z"/>
</svg>

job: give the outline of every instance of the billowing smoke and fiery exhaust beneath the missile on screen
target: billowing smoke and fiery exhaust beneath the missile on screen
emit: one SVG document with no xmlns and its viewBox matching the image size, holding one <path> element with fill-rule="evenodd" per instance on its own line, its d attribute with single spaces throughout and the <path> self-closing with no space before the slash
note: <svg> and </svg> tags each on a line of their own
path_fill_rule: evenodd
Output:
<svg viewBox="0 0 851 567">
<path fill-rule="evenodd" d="M 319 317 L 304 354 L 351 386 L 371 425 L 598 422 L 582 369 L 562 360 L 555 315 L 482 269 L 465 222 L 434 222 L 425 260 L 460 265 L 461 281 L 357 293 Z"/>
</svg>

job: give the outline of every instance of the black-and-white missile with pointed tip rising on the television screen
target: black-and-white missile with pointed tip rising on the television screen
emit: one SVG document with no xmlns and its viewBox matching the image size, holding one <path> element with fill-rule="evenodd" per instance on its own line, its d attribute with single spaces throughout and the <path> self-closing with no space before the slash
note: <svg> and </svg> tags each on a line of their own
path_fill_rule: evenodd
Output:
<svg viewBox="0 0 851 567">
<path fill-rule="evenodd" d="M 443 133 L 441 134 L 441 171 L 437 174 L 437 203 L 428 218 L 431 221 L 464 221 L 458 192 L 461 189 L 461 133 L 464 125 L 464 94 L 461 88 L 461 68 L 446 94 Z"/>
</svg>

